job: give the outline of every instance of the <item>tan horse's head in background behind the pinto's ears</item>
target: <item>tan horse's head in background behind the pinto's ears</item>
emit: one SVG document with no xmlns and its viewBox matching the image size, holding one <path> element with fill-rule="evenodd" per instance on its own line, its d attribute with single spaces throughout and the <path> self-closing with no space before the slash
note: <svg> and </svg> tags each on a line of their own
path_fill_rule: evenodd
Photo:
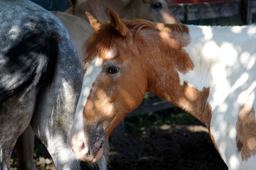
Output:
<svg viewBox="0 0 256 170">
<path fill-rule="evenodd" d="M 85 11 L 92 13 L 100 22 L 108 20 L 105 8 L 111 7 L 121 18 L 144 18 L 161 23 L 181 23 L 171 13 L 165 0 L 69 0 L 72 13 L 87 20 Z"/>
</svg>

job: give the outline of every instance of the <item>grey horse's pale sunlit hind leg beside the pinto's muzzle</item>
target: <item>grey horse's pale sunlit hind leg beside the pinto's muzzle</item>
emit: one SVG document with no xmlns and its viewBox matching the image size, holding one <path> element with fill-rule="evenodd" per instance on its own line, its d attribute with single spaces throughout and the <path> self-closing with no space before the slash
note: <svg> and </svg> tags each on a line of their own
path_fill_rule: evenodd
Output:
<svg viewBox="0 0 256 170">
<path fill-rule="evenodd" d="M 41 90 L 39 106 L 31 120 L 33 131 L 48 149 L 56 169 L 61 170 L 80 169 L 80 162 L 68 145 L 68 135 L 82 86 L 82 66 L 78 56 L 69 62 L 72 55 L 66 54 L 67 46 L 61 49 L 65 55 L 58 57 L 53 81 Z"/>
</svg>

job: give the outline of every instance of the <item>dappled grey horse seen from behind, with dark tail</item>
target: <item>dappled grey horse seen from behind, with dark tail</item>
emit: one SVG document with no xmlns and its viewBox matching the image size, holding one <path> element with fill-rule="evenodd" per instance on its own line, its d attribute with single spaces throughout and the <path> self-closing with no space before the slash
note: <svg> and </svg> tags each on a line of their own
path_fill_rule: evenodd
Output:
<svg viewBox="0 0 256 170">
<path fill-rule="evenodd" d="M 31 123 L 57 169 L 80 169 L 68 147 L 82 67 L 67 30 L 27 0 L 0 0 L 0 169 Z"/>
</svg>

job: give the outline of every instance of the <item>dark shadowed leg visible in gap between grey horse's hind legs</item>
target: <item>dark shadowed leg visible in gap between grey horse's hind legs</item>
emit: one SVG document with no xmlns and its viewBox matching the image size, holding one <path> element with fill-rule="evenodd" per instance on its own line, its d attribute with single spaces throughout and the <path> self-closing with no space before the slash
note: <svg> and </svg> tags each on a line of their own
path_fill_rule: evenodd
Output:
<svg viewBox="0 0 256 170">
<path fill-rule="evenodd" d="M 18 137 L 15 147 L 18 152 L 18 169 L 36 170 L 36 166 L 33 163 L 34 137 L 35 134 L 30 125 Z"/>
</svg>

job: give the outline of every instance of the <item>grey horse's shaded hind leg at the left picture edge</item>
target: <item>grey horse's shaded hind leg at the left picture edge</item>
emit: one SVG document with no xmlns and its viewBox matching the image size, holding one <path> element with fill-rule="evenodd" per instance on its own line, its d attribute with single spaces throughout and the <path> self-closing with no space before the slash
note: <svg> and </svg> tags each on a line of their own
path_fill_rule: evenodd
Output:
<svg viewBox="0 0 256 170">
<path fill-rule="evenodd" d="M 9 169 L 18 136 L 28 127 L 36 103 L 36 89 L 19 93 L 0 103 L 0 169 Z"/>
</svg>

